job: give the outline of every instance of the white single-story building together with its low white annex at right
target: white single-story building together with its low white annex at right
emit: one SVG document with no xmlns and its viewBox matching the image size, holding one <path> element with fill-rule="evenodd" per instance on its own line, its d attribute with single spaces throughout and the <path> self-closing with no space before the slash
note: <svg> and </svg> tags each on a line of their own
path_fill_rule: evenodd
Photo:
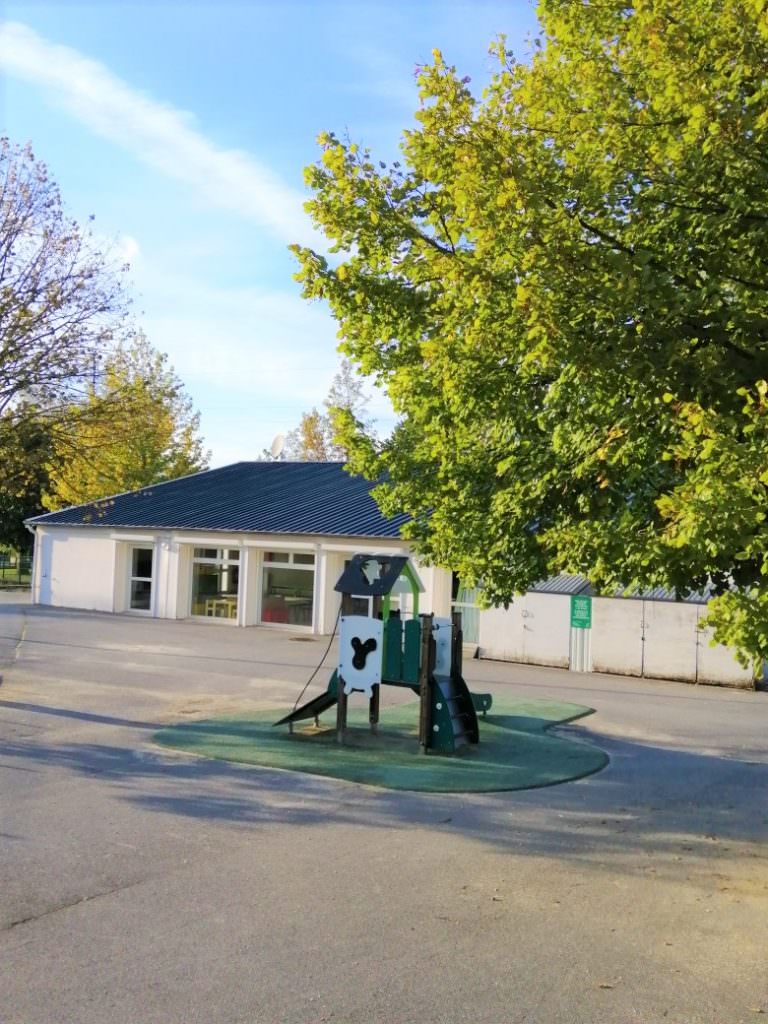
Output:
<svg viewBox="0 0 768 1024">
<path fill-rule="evenodd" d="M 339 609 L 334 585 L 351 555 L 411 554 L 400 537 L 407 516 L 384 517 L 371 489 L 340 463 L 240 462 L 50 512 L 28 521 L 35 532 L 32 598 L 328 634 Z M 461 610 L 465 640 L 480 657 L 752 684 L 730 649 L 710 646 L 699 626 L 706 596 L 600 598 L 583 577 L 557 577 L 508 608 L 480 610 L 476 594 L 450 570 L 418 560 L 417 567 L 422 608 Z M 574 601 L 588 607 L 588 625 L 573 617 Z"/>
</svg>

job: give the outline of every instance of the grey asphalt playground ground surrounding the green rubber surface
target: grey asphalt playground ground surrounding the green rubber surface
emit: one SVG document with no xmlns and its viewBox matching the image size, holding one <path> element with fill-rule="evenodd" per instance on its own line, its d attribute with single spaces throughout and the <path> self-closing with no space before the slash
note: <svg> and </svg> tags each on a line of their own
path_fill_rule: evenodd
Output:
<svg viewBox="0 0 768 1024">
<path fill-rule="evenodd" d="M 152 742 L 290 707 L 322 639 L 0 602 L 3 1024 L 768 1014 L 768 694 L 467 663 L 608 766 L 381 791 Z"/>
</svg>

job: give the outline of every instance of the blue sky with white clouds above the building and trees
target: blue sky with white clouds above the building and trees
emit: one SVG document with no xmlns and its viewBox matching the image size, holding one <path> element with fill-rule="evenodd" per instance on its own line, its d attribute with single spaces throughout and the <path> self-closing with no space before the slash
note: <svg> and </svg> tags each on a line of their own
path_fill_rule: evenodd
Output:
<svg viewBox="0 0 768 1024">
<path fill-rule="evenodd" d="M 337 326 L 294 282 L 322 131 L 397 158 L 434 48 L 479 93 L 529 0 L 91 0 L 0 8 L 0 133 L 30 141 L 68 212 L 130 263 L 133 314 L 201 413 L 212 466 L 258 458 L 321 407 Z M 386 396 L 372 392 L 380 433 Z"/>
</svg>

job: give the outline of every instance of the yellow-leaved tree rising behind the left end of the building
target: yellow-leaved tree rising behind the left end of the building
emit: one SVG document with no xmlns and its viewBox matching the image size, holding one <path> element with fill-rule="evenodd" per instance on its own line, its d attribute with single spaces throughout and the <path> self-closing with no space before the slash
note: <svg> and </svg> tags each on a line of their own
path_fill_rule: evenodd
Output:
<svg viewBox="0 0 768 1024">
<path fill-rule="evenodd" d="M 210 453 L 200 415 L 167 356 L 138 335 L 108 357 L 101 382 L 53 439 L 44 503 L 79 505 L 197 473 Z"/>
</svg>

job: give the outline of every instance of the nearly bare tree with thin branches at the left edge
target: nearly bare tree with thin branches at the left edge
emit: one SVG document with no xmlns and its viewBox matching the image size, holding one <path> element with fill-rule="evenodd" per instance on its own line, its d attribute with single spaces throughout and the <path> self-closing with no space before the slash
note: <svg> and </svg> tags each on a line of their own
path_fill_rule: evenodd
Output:
<svg viewBox="0 0 768 1024">
<path fill-rule="evenodd" d="M 32 148 L 0 138 L 0 543 L 30 546 L 53 438 L 123 327 L 125 269 L 66 216 Z"/>
</svg>

